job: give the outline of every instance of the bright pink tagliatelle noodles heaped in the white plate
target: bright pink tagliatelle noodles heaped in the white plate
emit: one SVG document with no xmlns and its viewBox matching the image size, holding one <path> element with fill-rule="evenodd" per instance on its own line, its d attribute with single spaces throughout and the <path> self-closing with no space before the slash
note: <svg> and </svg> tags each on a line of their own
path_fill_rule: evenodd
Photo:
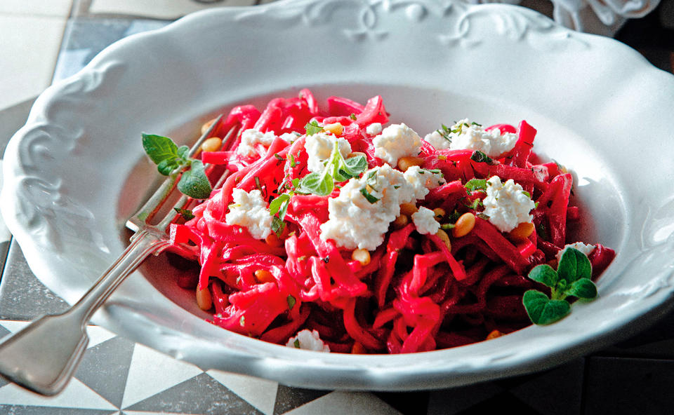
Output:
<svg viewBox="0 0 674 415">
<path fill-rule="evenodd" d="M 338 196 L 341 184 L 328 196 L 289 193 L 277 243 L 257 240 L 247 229 L 225 222 L 233 189 L 258 189 L 267 203 L 296 190 L 293 180 L 308 174 L 307 123 L 341 123 L 339 137 L 348 140 L 352 151 L 365 154 L 368 168 L 374 168 L 383 161 L 374 156 L 366 128 L 388 121 L 380 96 L 364 105 L 329 97 L 322 110 L 310 90 L 301 90 L 298 97 L 271 100 L 262 111 L 252 105 L 235 107 L 216 125 L 216 136 L 238 125 L 240 130 L 273 131 L 277 138 L 268 147 L 256 144 L 252 156 L 237 154 L 240 136 L 223 151 L 204 152 L 204 163 L 221 165 L 232 174 L 194 207 L 193 219 L 171 225 L 173 250 L 201 265 L 197 286 L 208 288 L 213 297 L 209 321 L 279 344 L 301 329 L 316 330 L 331 352 L 338 353 L 432 351 L 531 324 L 522 294 L 541 286 L 527 272 L 553 260 L 567 240 L 567 222 L 581 219 L 582 212 L 569 206 L 571 175 L 556 163 L 535 162 L 531 149 L 536 130 L 526 121 L 517 128 L 486 128 L 518 136 L 515 147 L 493 163 L 473 160 L 470 150 L 436 150 L 425 141 L 420 154 L 411 155 L 423 159 L 421 168 L 440 171 L 445 179 L 419 206 L 442 208 L 447 212 L 442 224 L 451 223 L 452 212 L 478 216 L 468 235 L 451 238 L 451 247 L 437 235 L 416 232 L 410 221 L 391 228 L 384 243 L 369 252 L 369 262 L 355 261 L 351 250 L 321 237 L 329 199 Z M 284 133 L 293 135 L 280 137 Z M 534 232 L 526 240 L 509 238 L 476 210 L 485 193 L 468 191 L 465 184 L 493 175 L 503 182 L 513 179 L 538 203 L 531 212 Z M 589 259 L 596 278 L 615 253 L 595 246 Z"/>
</svg>

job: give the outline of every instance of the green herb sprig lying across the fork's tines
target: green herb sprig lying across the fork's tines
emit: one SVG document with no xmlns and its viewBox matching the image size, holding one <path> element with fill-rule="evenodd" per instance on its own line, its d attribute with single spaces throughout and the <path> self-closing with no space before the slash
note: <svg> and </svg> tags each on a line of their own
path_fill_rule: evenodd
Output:
<svg viewBox="0 0 674 415">
<path fill-rule="evenodd" d="M 164 176 L 183 175 L 178 182 L 178 190 L 190 198 L 205 199 L 211 196 L 211 183 L 206 177 L 201 160 L 187 156 L 190 149 L 180 146 L 169 137 L 143 134 L 143 149 L 157 165 L 157 170 Z"/>
</svg>

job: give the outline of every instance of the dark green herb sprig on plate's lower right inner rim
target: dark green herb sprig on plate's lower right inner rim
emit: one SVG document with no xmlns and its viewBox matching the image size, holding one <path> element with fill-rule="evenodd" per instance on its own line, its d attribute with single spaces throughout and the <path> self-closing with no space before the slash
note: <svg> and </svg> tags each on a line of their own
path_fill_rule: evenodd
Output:
<svg viewBox="0 0 674 415">
<path fill-rule="evenodd" d="M 548 325 L 562 320 L 571 312 L 568 297 L 593 300 L 597 297 L 597 287 L 590 280 L 592 264 L 586 254 L 572 247 L 562 253 L 557 271 L 548 264 L 535 266 L 529 271 L 529 278 L 550 287 L 550 297 L 538 290 L 524 292 L 522 304 L 531 322 Z"/>
</svg>

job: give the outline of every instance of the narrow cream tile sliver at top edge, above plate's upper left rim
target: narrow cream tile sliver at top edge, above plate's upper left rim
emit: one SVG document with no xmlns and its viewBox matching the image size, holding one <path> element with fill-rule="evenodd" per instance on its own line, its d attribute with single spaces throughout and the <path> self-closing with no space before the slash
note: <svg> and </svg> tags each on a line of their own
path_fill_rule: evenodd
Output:
<svg viewBox="0 0 674 415">
<path fill-rule="evenodd" d="M 187 13 L 213 8 L 213 6 L 252 6 L 253 4 L 255 4 L 254 0 L 223 0 L 216 4 L 199 4 L 192 0 L 92 0 L 89 12 L 175 19 Z"/>
</svg>

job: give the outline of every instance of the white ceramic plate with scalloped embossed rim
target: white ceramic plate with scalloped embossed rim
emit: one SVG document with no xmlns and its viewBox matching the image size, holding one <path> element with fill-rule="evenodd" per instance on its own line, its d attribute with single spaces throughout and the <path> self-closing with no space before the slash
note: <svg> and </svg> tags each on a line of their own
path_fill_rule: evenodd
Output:
<svg viewBox="0 0 674 415">
<path fill-rule="evenodd" d="M 69 302 L 123 250 L 154 178 L 141 132 L 187 141 L 220 109 L 312 88 L 381 94 L 424 133 L 469 116 L 527 119 L 536 151 L 576 173 L 583 240 L 618 252 L 600 298 L 549 327 L 412 355 L 300 351 L 204 321 L 156 271 L 137 272 L 95 322 L 201 367 L 294 386 L 412 390 L 558 365 L 640 329 L 674 274 L 674 77 L 611 39 L 524 8 L 435 1 L 279 1 L 187 16 L 131 36 L 39 97 L 4 156 L 2 212 L 34 273 Z M 159 261 L 161 262 L 161 261 Z M 147 267 L 146 267 L 147 268 Z"/>
</svg>

